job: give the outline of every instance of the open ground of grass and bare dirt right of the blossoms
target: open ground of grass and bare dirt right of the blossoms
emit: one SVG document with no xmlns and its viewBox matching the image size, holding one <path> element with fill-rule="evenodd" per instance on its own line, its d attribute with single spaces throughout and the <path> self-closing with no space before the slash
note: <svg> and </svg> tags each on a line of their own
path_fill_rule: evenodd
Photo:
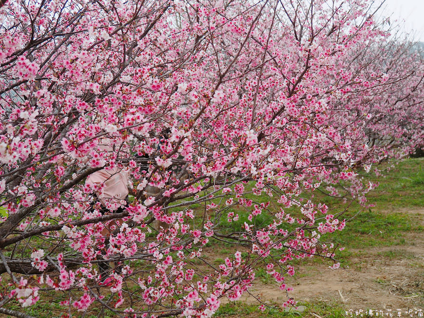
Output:
<svg viewBox="0 0 424 318">
<path fill-rule="evenodd" d="M 227 303 L 216 317 L 370 317 L 369 309 L 384 317 L 390 313 L 392 317 L 423 317 L 423 163 L 423 159 L 410 159 L 381 180 L 376 206 L 365 215 L 358 214 L 336 241 L 347 245 L 339 254 L 341 268 L 331 270 L 322 260 L 296 266 L 295 276 L 287 283 L 293 287 L 289 297 L 298 302 L 297 310 L 281 313 L 288 296 L 264 277 L 251 295 Z M 255 298 L 280 312 L 261 313 Z"/>
</svg>

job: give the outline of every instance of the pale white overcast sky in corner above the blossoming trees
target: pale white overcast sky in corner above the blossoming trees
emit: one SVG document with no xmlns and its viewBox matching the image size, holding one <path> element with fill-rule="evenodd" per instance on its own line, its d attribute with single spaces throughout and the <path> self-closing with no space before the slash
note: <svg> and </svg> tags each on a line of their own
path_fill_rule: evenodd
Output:
<svg viewBox="0 0 424 318">
<path fill-rule="evenodd" d="M 390 16 L 390 21 L 405 20 L 405 31 L 412 34 L 415 30 L 414 38 L 424 42 L 424 0 L 386 0 L 383 6 L 382 13 Z"/>
</svg>

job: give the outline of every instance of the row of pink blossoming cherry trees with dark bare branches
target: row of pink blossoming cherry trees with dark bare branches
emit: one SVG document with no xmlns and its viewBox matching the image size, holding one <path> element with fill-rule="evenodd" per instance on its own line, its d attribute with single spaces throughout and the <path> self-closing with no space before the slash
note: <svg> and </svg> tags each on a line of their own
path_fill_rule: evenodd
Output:
<svg viewBox="0 0 424 318">
<path fill-rule="evenodd" d="M 365 205 L 375 185 L 358 170 L 423 144 L 422 58 L 373 14 L 365 0 L 9 1 L 1 312 L 56 291 L 73 315 L 210 317 L 258 267 L 286 292 L 290 260 L 332 259 L 320 235 L 345 221 L 309 193 Z M 100 169 L 131 176 L 117 213 L 93 205 Z M 220 241 L 234 247 L 216 264 Z M 104 280 L 99 262 L 119 266 Z"/>
</svg>

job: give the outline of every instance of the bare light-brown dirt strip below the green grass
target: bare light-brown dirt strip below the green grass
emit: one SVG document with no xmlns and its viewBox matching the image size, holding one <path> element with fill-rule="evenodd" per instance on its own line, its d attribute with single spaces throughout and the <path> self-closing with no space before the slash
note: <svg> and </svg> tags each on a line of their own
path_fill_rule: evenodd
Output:
<svg viewBox="0 0 424 318">
<path fill-rule="evenodd" d="M 410 213 L 424 225 L 424 209 L 401 212 Z M 402 245 L 362 249 L 362 257 L 351 258 L 351 268 L 298 266 L 297 275 L 288 281 L 294 289 L 289 296 L 297 301 L 334 303 L 345 310 L 392 309 L 397 313 L 399 308 L 424 312 L 424 232 L 406 233 L 404 239 Z M 251 294 L 274 304 L 287 300 L 272 282 L 255 285 Z M 241 300 L 255 301 L 251 296 Z"/>
</svg>

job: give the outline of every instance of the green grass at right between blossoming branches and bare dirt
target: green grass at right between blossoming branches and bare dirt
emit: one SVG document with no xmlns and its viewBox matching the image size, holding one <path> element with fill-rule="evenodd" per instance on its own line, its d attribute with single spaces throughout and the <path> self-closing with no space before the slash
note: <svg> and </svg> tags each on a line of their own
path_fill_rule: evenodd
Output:
<svg viewBox="0 0 424 318">
<path fill-rule="evenodd" d="M 357 213 L 357 206 L 353 206 L 344 217 L 354 217 L 331 240 L 350 248 L 405 244 L 402 236 L 406 231 L 422 231 L 423 226 L 414 222 L 414 215 L 407 210 L 424 207 L 424 183 L 414 181 L 417 174 L 423 178 L 423 165 L 423 158 L 407 159 L 385 177 L 372 177 L 373 182 L 380 180 L 380 186 L 369 195 L 375 207 Z"/>
</svg>

